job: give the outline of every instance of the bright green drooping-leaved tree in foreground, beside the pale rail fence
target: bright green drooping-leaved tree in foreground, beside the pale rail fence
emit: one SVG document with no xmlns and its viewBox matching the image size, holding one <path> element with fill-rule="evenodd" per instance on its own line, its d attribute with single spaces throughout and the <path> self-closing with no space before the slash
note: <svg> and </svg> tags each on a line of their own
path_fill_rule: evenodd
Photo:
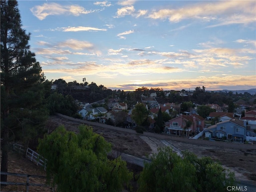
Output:
<svg viewBox="0 0 256 192">
<path fill-rule="evenodd" d="M 38 151 L 47 159 L 48 182 L 58 185 L 61 192 L 119 192 L 128 185 L 132 173 L 126 162 L 118 157 L 109 160 L 111 144 L 86 125 L 80 125 L 79 133 L 58 127 L 50 135 L 39 140 Z"/>
</svg>

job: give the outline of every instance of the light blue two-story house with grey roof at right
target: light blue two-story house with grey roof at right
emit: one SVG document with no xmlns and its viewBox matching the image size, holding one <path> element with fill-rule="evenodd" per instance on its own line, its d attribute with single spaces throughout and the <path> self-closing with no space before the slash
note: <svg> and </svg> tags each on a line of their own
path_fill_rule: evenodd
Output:
<svg viewBox="0 0 256 192">
<path fill-rule="evenodd" d="M 246 123 L 238 119 L 230 119 L 212 125 L 205 130 L 206 137 L 225 138 L 233 142 L 246 140 Z"/>
</svg>

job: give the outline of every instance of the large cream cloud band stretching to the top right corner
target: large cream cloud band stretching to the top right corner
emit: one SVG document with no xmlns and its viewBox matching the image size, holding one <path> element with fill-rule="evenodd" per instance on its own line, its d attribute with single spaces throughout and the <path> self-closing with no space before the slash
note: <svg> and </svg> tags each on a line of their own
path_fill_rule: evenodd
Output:
<svg viewBox="0 0 256 192">
<path fill-rule="evenodd" d="M 203 2 L 178 9 L 153 11 L 148 15 L 148 18 L 168 19 L 170 22 L 180 22 L 185 19 L 214 20 L 218 22 L 218 24 L 212 25 L 212 27 L 234 23 L 251 23 L 255 22 L 255 1 Z"/>
</svg>

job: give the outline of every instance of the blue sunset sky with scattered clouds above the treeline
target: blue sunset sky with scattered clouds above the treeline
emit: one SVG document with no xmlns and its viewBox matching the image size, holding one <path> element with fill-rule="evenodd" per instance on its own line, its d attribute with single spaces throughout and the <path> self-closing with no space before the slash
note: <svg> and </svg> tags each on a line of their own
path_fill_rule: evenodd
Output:
<svg viewBox="0 0 256 192">
<path fill-rule="evenodd" d="M 256 88 L 256 1 L 18 0 L 48 80 L 112 90 Z"/>
</svg>

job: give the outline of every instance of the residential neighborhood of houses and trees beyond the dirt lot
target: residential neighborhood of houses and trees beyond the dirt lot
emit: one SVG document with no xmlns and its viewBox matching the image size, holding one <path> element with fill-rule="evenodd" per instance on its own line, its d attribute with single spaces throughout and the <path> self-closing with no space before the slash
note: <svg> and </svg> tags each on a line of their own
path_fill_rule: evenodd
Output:
<svg viewBox="0 0 256 192">
<path fill-rule="evenodd" d="M 193 92 L 187 93 L 184 90 L 177 94 L 182 98 L 193 96 Z M 165 96 L 170 96 L 170 92 L 166 92 Z M 143 123 L 144 131 L 147 132 L 210 141 L 249 144 L 256 142 L 256 110 L 246 110 L 244 105 L 237 105 L 234 112 L 228 112 L 226 104 L 220 106 L 214 103 L 205 105 L 191 102 L 160 103 L 156 92 L 141 94 L 140 102 L 137 101 L 136 104 L 138 103 L 143 104 L 148 113 Z M 84 104 L 78 114 L 84 120 L 134 129 L 138 126 L 132 117 L 136 104 L 128 107 L 128 103 L 121 102 L 120 98 L 109 99 L 107 103 L 106 100 L 101 100 Z M 188 108 L 186 105 L 189 105 Z M 200 106 L 211 109 L 206 118 L 198 114 Z M 160 111 L 165 118 L 159 132 L 157 128 Z"/>
</svg>

